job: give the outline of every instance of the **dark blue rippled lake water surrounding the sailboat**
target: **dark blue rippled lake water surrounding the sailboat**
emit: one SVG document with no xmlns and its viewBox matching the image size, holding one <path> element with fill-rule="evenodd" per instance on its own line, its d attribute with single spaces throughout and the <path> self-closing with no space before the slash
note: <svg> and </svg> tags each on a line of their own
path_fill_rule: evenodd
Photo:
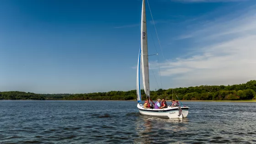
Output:
<svg viewBox="0 0 256 144">
<path fill-rule="evenodd" d="M 182 103 L 187 118 L 165 119 L 136 101 L 0 101 L 0 144 L 256 143 L 256 103 Z"/>
</svg>

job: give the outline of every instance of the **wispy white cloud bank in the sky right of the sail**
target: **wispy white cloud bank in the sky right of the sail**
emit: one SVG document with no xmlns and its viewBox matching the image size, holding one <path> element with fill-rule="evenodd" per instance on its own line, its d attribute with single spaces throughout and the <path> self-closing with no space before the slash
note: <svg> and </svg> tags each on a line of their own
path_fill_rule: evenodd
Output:
<svg viewBox="0 0 256 144">
<path fill-rule="evenodd" d="M 231 85 L 256 79 L 256 15 L 254 7 L 232 20 L 217 21 L 183 33 L 192 38 L 195 55 L 160 63 L 161 76 L 171 76 L 174 87 L 194 85 Z M 180 38 L 179 40 L 182 40 Z M 201 54 L 198 54 L 201 53 Z M 152 63 L 153 69 L 158 69 Z"/>
</svg>

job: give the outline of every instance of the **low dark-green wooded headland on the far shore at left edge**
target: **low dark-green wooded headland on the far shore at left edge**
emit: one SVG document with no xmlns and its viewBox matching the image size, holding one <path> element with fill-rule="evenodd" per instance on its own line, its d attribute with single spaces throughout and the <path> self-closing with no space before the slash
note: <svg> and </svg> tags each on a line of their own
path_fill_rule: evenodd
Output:
<svg viewBox="0 0 256 144">
<path fill-rule="evenodd" d="M 45 96 L 32 92 L 2 91 L 0 92 L 0 100 L 45 100 Z"/>
</svg>

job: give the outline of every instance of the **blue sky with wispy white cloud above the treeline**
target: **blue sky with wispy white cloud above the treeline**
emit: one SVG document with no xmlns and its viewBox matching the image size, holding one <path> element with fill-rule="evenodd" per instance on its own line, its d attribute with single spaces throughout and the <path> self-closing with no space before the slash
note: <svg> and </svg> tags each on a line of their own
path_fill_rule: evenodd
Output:
<svg viewBox="0 0 256 144">
<path fill-rule="evenodd" d="M 256 79 L 256 0 L 148 2 L 150 90 Z M 135 90 L 141 5 L 0 0 L 0 91 Z"/>
</svg>

